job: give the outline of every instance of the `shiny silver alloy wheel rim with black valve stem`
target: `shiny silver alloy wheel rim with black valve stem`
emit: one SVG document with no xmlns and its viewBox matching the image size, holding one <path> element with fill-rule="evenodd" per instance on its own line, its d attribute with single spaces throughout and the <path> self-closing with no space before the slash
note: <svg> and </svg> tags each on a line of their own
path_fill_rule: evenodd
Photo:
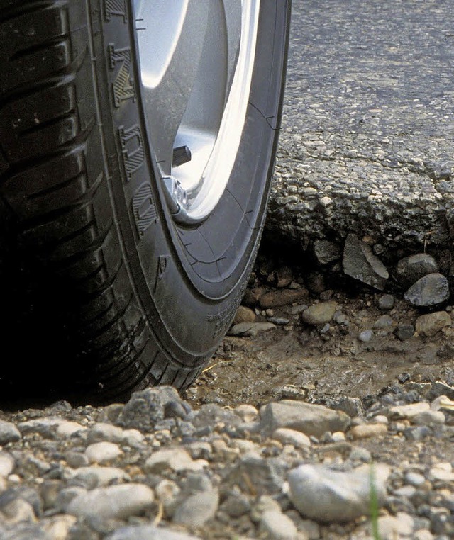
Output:
<svg viewBox="0 0 454 540">
<path fill-rule="evenodd" d="M 260 0 L 135 0 L 150 146 L 172 213 L 204 220 L 238 154 Z"/>
</svg>

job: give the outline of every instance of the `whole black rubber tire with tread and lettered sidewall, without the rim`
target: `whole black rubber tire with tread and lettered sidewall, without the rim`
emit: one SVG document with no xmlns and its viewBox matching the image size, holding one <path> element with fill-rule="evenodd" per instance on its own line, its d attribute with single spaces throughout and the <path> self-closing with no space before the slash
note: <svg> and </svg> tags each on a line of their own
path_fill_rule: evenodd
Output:
<svg viewBox="0 0 454 540">
<path fill-rule="evenodd" d="M 70 378 L 102 400 L 186 388 L 228 330 L 258 248 L 290 0 L 261 2 L 236 164 L 196 227 L 175 223 L 156 180 L 131 4 L 0 0 L 0 271 L 3 327 L 18 336 L 0 380 L 19 392 L 26 376 L 48 388 Z"/>
</svg>

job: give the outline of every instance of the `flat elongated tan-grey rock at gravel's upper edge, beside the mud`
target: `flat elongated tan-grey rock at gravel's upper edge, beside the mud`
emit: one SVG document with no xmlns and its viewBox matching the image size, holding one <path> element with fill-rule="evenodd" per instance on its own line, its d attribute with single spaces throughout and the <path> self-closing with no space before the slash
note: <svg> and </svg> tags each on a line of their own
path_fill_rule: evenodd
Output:
<svg viewBox="0 0 454 540">
<path fill-rule="evenodd" d="M 301 401 L 282 400 L 260 409 L 260 429 L 267 435 L 279 427 L 288 427 L 321 437 L 325 432 L 343 432 L 349 425 L 350 418 L 345 412 Z"/>
</svg>

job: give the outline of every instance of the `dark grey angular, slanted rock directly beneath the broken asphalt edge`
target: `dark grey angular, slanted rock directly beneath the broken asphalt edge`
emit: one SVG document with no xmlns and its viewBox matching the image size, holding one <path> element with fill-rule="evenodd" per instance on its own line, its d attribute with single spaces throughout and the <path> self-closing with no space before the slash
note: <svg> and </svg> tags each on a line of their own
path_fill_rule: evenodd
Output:
<svg viewBox="0 0 454 540">
<path fill-rule="evenodd" d="M 343 250 L 343 271 L 347 276 L 358 279 L 382 291 L 389 278 L 386 266 L 372 252 L 369 244 L 350 233 Z"/>
</svg>

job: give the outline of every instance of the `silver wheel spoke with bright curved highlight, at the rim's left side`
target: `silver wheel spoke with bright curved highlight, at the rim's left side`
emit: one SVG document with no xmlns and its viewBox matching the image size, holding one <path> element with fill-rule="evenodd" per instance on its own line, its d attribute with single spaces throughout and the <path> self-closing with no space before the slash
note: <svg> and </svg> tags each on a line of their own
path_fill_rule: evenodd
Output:
<svg viewBox="0 0 454 540">
<path fill-rule="evenodd" d="M 143 93 L 150 132 L 157 135 L 153 150 L 162 169 L 170 174 L 175 135 L 204 49 L 209 0 L 163 0 L 154 2 L 153 10 L 149 1 L 136 6 L 136 16 L 143 19 L 145 28 L 148 23 L 153 25 L 153 30 L 138 33 Z"/>
</svg>

